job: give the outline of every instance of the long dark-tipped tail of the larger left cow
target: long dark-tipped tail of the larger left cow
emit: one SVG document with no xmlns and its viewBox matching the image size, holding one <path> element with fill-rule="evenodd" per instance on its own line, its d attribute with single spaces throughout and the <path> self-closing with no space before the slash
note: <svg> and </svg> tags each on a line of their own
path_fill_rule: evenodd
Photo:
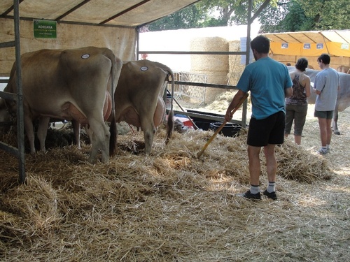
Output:
<svg viewBox="0 0 350 262">
<path fill-rule="evenodd" d="M 111 137 L 109 138 L 109 156 L 112 157 L 114 154 L 116 154 L 116 148 L 117 148 L 116 105 L 115 105 L 115 99 L 114 99 L 114 92 L 116 92 L 116 87 L 120 77 L 120 71 L 122 70 L 123 61 L 118 57 L 116 57 L 113 54 L 113 52 L 111 52 L 109 59 L 111 59 L 112 61 L 112 68 L 111 68 L 112 81 L 111 81 L 111 89 L 109 90 L 111 94 L 111 100 L 112 100 L 112 111 L 111 111 L 111 117 L 110 117 L 111 125 L 109 126 L 109 133 L 111 133 Z"/>
</svg>

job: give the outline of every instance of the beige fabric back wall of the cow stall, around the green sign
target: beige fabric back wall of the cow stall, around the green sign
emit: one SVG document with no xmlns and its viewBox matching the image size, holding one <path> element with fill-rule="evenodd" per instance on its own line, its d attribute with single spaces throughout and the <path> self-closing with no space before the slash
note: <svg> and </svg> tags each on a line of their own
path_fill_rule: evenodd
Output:
<svg viewBox="0 0 350 262">
<path fill-rule="evenodd" d="M 13 20 L 0 18 L 1 42 L 13 41 Z M 57 24 L 57 38 L 34 38 L 33 22 L 20 20 L 20 52 L 41 49 L 69 49 L 97 46 L 111 49 L 123 60 L 135 60 L 137 32 L 129 28 L 95 27 L 85 24 Z M 0 76 L 9 76 L 15 48 L 1 48 Z"/>
</svg>

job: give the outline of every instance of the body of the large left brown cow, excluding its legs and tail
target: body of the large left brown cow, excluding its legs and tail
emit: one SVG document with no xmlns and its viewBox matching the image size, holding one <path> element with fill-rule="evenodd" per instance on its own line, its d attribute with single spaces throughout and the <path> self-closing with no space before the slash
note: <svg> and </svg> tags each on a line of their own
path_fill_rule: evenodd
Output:
<svg viewBox="0 0 350 262">
<path fill-rule="evenodd" d="M 70 119 L 69 115 L 62 112 L 66 102 L 74 105 L 83 115 L 86 115 L 87 110 L 103 108 L 111 73 L 111 60 L 104 52 L 111 50 L 87 47 L 46 49 L 22 54 L 25 107 L 34 114 L 64 119 Z M 12 74 L 6 91 L 15 93 L 15 68 Z M 103 87 L 104 91 L 96 87 Z"/>
</svg>

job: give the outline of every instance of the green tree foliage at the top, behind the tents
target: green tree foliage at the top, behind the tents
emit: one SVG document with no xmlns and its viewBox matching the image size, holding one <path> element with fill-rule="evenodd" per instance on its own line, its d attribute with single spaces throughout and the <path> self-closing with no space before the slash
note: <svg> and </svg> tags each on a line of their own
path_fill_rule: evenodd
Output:
<svg viewBox="0 0 350 262">
<path fill-rule="evenodd" d="M 265 0 L 253 0 L 252 15 Z M 247 0 L 202 0 L 148 24 L 150 31 L 247 24 Z M 258 15 L 261 31 L 350 28 L 349 0 L 271 0 Z"/>
</svg>

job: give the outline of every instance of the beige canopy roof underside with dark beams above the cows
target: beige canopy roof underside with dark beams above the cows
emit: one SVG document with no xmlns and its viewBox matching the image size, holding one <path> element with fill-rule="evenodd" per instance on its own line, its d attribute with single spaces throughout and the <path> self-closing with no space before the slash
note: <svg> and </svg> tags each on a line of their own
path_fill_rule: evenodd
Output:
<svg viewBox="0 0 350 262">
<path fill-rule="evenodd" d="M 57 22 L 138 27 L 198 0 L 22 0 L 20 17 Z M 13 0 L 1 0 L 0 17 L 13 16 Z"/>
</svg>

